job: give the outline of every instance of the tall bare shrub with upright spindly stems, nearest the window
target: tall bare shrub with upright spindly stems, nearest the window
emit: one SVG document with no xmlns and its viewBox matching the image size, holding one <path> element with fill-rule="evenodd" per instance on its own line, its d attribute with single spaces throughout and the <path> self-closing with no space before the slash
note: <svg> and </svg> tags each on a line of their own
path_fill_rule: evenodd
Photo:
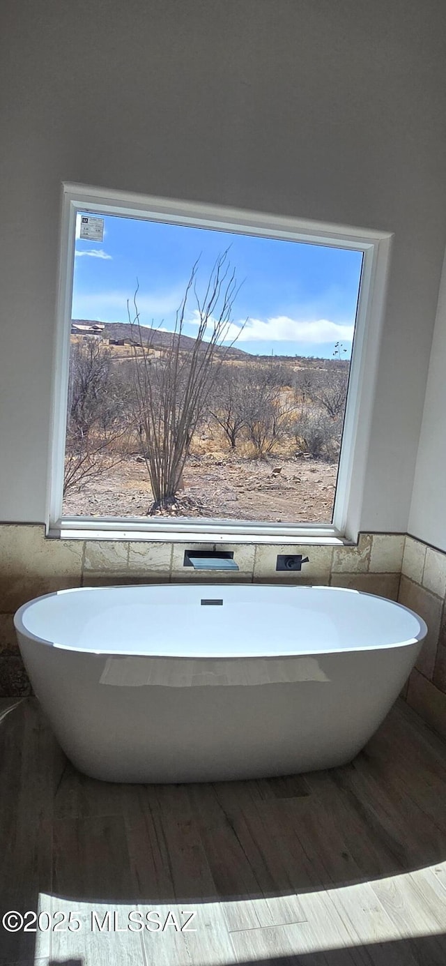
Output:
<svg viewBox="0 0 446 966">
<path fill-rule="evenodd" d="M 148 513 L 169 508 L 176 500 L 192 436 L 208 402 L 214 379 L 234 341 L 226 349 L 231 314 L 237 295 L 235 270 L 228 252 L 219 255 L 205 294 L 196 287 L 198 263 L 191 271 L 176 315 L 169 349 L 162 357 L 151 355 L 156 330 L 145 340 L 139 320 L 137 292 L 134 317 L 128 307 L 134 358 L 135 416 L 141 451 L 153 491 Z M 191 350 L 181 350 L 181 335 L 189 298 L 195 297 L 198 331 Z M 218 350 L 218 353 L 217 353 Z"/>
</svg>

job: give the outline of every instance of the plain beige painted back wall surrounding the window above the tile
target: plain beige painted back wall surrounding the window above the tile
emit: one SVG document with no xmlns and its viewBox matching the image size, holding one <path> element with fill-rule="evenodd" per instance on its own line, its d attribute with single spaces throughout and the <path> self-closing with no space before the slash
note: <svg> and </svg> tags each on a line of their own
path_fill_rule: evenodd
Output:
<svg viewBox="0 0 446 966">
<path fill-rule="evenodd" d="M 4 0 L 1 16 L 0 519 L 45 519 L 72 181 L 395 233 L 360 526 L 405 532 L 446 234 L 442 0 Z"/>
</svg>

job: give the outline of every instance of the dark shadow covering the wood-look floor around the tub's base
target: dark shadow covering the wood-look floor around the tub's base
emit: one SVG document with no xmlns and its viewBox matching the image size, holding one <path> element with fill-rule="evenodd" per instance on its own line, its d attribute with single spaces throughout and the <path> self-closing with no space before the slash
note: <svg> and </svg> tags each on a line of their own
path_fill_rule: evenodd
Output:
<svg viewBox="0 0 446 966">
<path fill-rule="evenodd" d="M 77 901 L 146 909 L 221 903 L 226 912 L 233 906 L 236 919 L 237 904 L 241 909 L 266 900 L 273 915 L 281 897 L 285 902 L 288 896 L 373 884 L 427 867 L 432 877 L 433 867 L 446 861 L 444 745 L 403 705 L 343 768 L 284 779 L 151 786 L 80 775 L 60 751 L 37 700 L 29 698 L 0 722 L 0 760 L 1 915 L 38 911 L 42 896 L 50 901 L 51 895 L 52 909 L 69 901 L 71 908 Z M 446 873 L 437 871 L 441 893 Z M 422 899 L 423 884 L 415 880 L 413 888 Z M 257 915 L 255 905 L 248 913 Z M 1 966 L 27 962 L 34 938 L 0 932 Z M 443 958 L 434 958 L 439 942 L 431 936 L 402 939 L 379 944 L 373 956 L 364 947 L 368 955 L 351 961 L 390 966 L 393 959 L 386 960 L 384 951 L 377 959 L 377 952 L 388 946 L 389 956 L 397 948 L 404 953 L 405 943 L 410 966 L 444 966 L 444 948 Z M 339 950 L 318 955 L 256 961 L 350 961 L 346 952 L 340 959 Z M 46 961 L 84 966 L 76 958 Z"/>
</svg>

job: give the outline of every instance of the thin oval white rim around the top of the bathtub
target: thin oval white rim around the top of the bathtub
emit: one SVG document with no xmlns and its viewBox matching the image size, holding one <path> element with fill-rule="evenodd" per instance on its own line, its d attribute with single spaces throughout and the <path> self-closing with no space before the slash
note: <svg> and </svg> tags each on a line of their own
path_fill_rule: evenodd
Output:
<svg viewBox="0 0 446 966">
<path fill-rule="evenodd" d="M 321 655 L 321 650 L 314 650 L 314 651 L 305 651 L 305 652 L 296 653 L 296 654 L 274 654 L 274 655 L 272 655 L 272 654 L 262 654 L 262 655 L 260 655 L 260 654 L 256 654 L 256 655 L 243 655 L 243 654 L 237 655 L 237 654 L 232 654 L 232 655 L 226 655 L 225 656 L 225 655 L 213 655 L 213 654 L 209 654 L 209 655 L 200 655 L 200 657 L 197 658 L 197 655 L 191 655 L 191 654 L 163 654 L 163 653 L 161 653 L 161 654 L 141 654 L 141 652 L 136 652 L 135 653 L 131 649 L 128 649 L 126 651 L 110 651 L 110 650 L 105 650 L 105 649 L 87 650 L 85 647 L 67 647 L 64 644 L 58 644 L 58 643 L 56 643 L 54 640 L 47 640 L 47 639 L 44 639 L 44 638 L 40 638 L 38 635 L 33 634 L 31 631 L 29 631 L 24 626 L 24 624 L 23 624 L 23 615 L 24 615 L 24 613 L 29 608 L 31 608 L 34 604 L 36 604 L 38 601 L 45 600 L 45 599 L 47 599 L 49 597 L 60 597 L 63 594 L 71 594 L 71 593 L 76 593 L 78 591 L 85 591 L 85 590 L 86 591 L 92 591 L 92 590 L 95 590 L 95 591 L 103 591 L 103 590 L 117 590 L 117 589 L 123 589 L 123 588 L 125 588 L 125 589 L 131 589 L 133 587 L 137 587 L 138 589 L 142 589 L 142 588 L 145 588 L 145 587 L 151 587 L 151 588 L 154 588 L 154 587 L 173 587 L 174 588 L 176 586 L 184 587 L 184 586 L 188 586 L 188 585 L 189 584 L 186 584 L 186 583 L 167 583 L 167 582 L 166 583 L 164 583 L 164 582 L 163 583 L 116 583 L 116 584 L 104 584 L 104 585 L 101 585 L 101 586 L 67 587 L 67 588 L 62 589 L 62 590 L 53 590 L 53 591 L 51 591 L 48 594 L 40 594 L 38 597 L 33 597 L 32 600 L 26 601 L 24 604 L 22 604 L 17 609 L 17 611 L 15 611 L 15 613 L 14 613 L 14 630 L 15 630 L 15 632 L 16 632 L 17 635 L 18 634 L 21 634 L 24 638 L 33 640 L 34 642 L 36 642 L 38 644 L 44 644 L 47 647 L 53 647 L 56 650 L 60 650 L 60 651 L 69 651 L 69 652 L 71 652 L 73 654 L 83 654 L 85 656 L 90 655 L 92 657 L 101 657 L 101 656 L 116 657 L 116 658 L 120 658 L 120 657 L 123 657 L 123 658 L 124 657 L 147 657 L 148 659 L 156 659 L 156 660 L 159 660 L 159 658 L 162 658 L 165 661 L 197 661 L 197 660 L 202 660 L 202 661 L 209 660 L 209 661 L 211 661 L 211 660 L 216 660 L 216 659 L 218 659 L 219 661 L 241 661 L 241 660 L 243 660 L 243 661 L 259 661 L 259 660 L 262 660 L 262 661 L 270 661 L 270 660 L 277 660 L 278 658 L 280 658 L 282 660 L 293 660 L 294 658 L 298 658 L 298 657 L 311 657 L 311 656 L 315 656 L 315 655 Z M 392 641 L 391 643 L 388 643 L 388 644 L 379 644 L 379 645 L 374 645 L 374 646 L 329 648 L 326 651 L 323 651 L 323 654 L 355 654 L 355 653 L 359 653 L 359 652 L 362 652 L 362 651 L 378 651 L 378 650 L 390 650 L 390 649 L 395 648 L 395 647 L 410 647 L 410 646 L 413 646 L 414 644 L 423 642 L 426 639 L 427 634 L 428 634 L 428 631 L 429 631 L 428 625 L 426 624 L 426 622 L 423 619 L 423 617 L 421 617 L 420 614 L 418 614 L 416 611 L 412 611 L 410 608 L 405 607 L 404 604 L 400 604 L 399 601 L 393 601 L 393 600 L 390 600 L 390 598 L 388 598 L 388 597 L 381 597 L 379 594 L 372 594 L 372 593 L 370 593 L 370 592 L 368 592 L 366 590 L 355 590 L 352 587 L 332 587 L 332 586 L 327 586 L 326 584 L 323 584 L 323 583 L 311 583 L 311 584 L 299 584 L 299 583 L 286 583 L 286 584 L 259 583 L 259 584 L 253 584 L 253 583 L 248 583 L 248 582 L 246 582 L 246 583 L 245 582 L 237 582 L 237 583 L 235 582 L 235 583 L 225 583 L 225 584 L 221 584 L 221 583 L 218 583 L 218 582 L 215 582 L 215 583 L 199 583 L 199 582 L 195 583 L 194 582 L 194 583 L 191 583 L 190 586 L 191 587 L 194 587 L 194 588 L 205 587 L 208 592 L 209 592 L 209 587 L 222 587 L 222 588 L 224 588 L 224 589 L 227 590 L 228 587 L 230 587 L 230 586 L 237 586 L 237 587 L 238 586 L 243 586 L 243 587 L 244 586 L 246 586 L 246 587 L 247 586 L 249 586 L 249 587 L 258 586 L 258 587 L 273 587 L 275 590 L 277 590 L 279 588 L 281 590 L 282 589 L 286 589 L 286 590 L 296 590 L 296 589 L 300 589 L 301 588 L 301 589 L 306 589 L 306 590 L 309 590 L 309 589 L 324 590 L 324 591 L 331 590 L 331 591 L 335 591 L 335 592 L 341 592 L 343 594 L 345 594 L 345 593 L 349 593 L 349 594 L 354 593 L 354 594 L 359 594 L 362 597 L 373 597 L 375 600 L 384 601 L 387 604 L 392 604 L 395 607 L 399 608 L 400 610 L 405 611 L 406 613 L 409 613 L 412 617 L 415 617 L 416 620 L 420 624 L 420 631 L 419 631 L 419 633 L 415 637 L 410 638 L 410 639 L 400 640 L 400 641 L 395 641 L 395 642 Z"/>
</svg>

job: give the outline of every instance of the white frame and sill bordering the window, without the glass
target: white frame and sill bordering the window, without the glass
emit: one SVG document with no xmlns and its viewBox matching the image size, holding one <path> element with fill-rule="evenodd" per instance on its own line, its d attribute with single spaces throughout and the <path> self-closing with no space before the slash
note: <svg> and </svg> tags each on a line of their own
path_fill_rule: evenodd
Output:
<svg viewBox="0 0 446 966">
<path fill-rule="evenodd" d="M 76 214 L 118 214 L 171 224 L 306 241 L 363 253 L 332 524 L 269 524 L 169 518 L 61 517 Z M 343 225 L 249 212 L 85 185 L 63 185 L 56 337 L 53 358 L 52 432 L 46 526 L 49 536 L 203 543 L 351 543 L 357 540 L 371 424 L 392 234 Z"/>
</svg>

